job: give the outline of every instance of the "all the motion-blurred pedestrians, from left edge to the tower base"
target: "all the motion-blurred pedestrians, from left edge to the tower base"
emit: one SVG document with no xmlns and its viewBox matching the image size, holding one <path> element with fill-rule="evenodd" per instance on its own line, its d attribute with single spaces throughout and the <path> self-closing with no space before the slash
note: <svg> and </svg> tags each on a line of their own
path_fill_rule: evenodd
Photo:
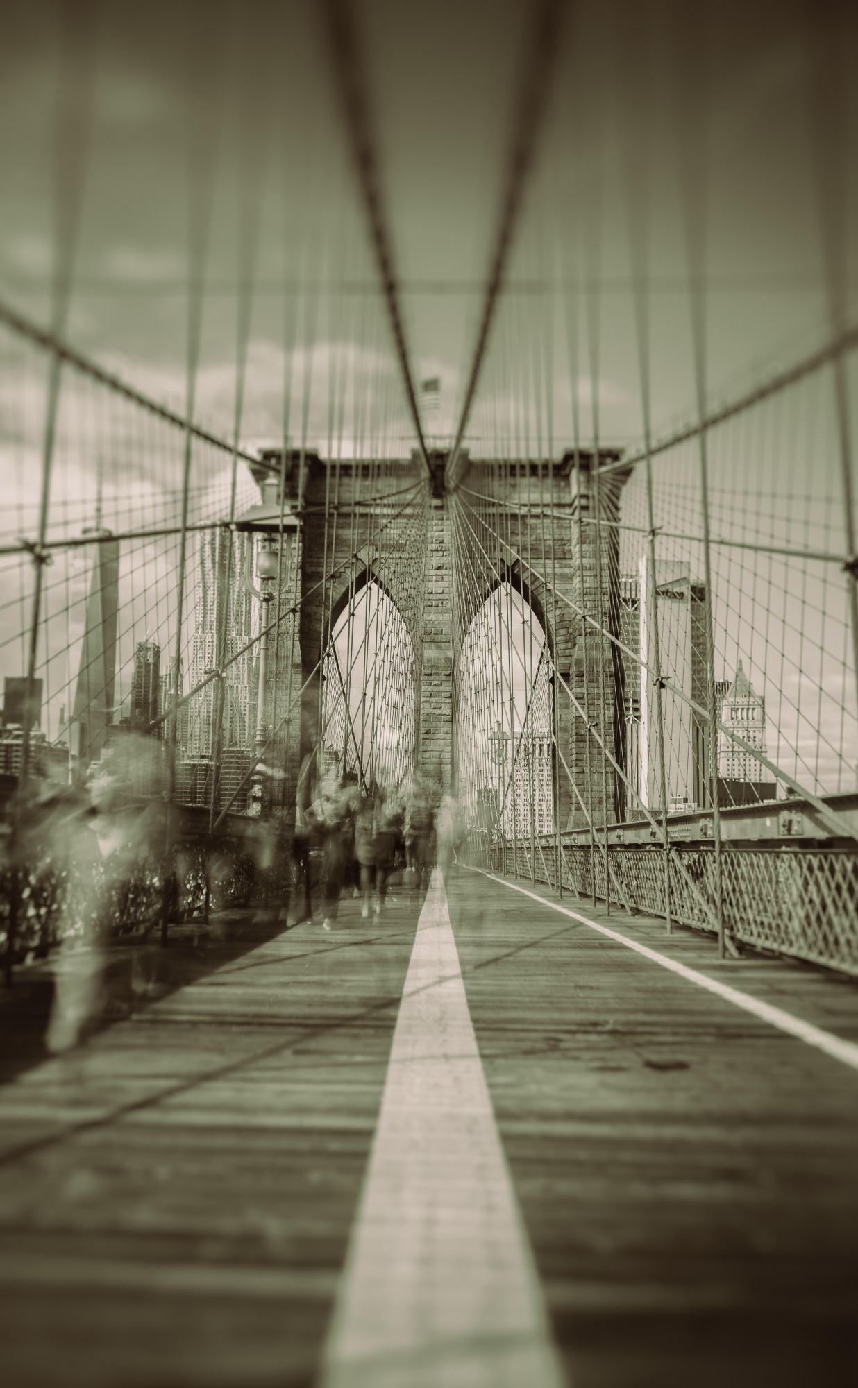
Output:
<svg viewBox="0 0 858 1388">
<path fill-rule="evenodd" d="M 268 899 L 276 880 L 290 877 L 294 924 L 312 919 L 315 891 L 322 927 L 332 930 L 344 891 L 362 897 L 364 919 L 380 917 L 394 873 L 403 873 L 405 888 L 428 887 L 435 863 L 447 872 L 455 856 L 458 816 L 450 797 L 417 777 L 407 791 L 361 786 L 354 775 L 319 777 L 315 752 L 298 779 L 292 863 L 289 834 L 262 823 L 240 840 L 240 852 L 212 843 L 201 854 L 199 844 L 178 840 L 168 852 L 171 809 L 154 799 L 140 804 L 131 750 L 121 751 L 86 787 L 54 788 L 46 798 L 31 786 L 14 833 L 7 824 L 0 834 L 7 967 L 15 952 L 24 959 L 58 947 L 46 1037 L 53 1052 L 76 1045 L 97 1017 L 112 934 L 147 934 L 160 920 L 165 941 L 171 920 L 236 899 L 239 874 L 246 901 L 262 890 Z"/>
</svg>

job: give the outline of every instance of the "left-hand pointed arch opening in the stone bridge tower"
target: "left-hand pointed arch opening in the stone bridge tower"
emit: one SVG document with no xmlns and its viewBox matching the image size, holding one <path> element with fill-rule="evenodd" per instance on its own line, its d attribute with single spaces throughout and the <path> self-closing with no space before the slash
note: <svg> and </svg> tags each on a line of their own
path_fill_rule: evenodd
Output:
<svg viewBox="0 0 858 1388">
<path fill-rule="evenodd" d="M 414 768 L 414 644 L 375 582 L 336 618 L 322 665 L 322 776 L 362 788 L 403 786 Z"/>
</svg>

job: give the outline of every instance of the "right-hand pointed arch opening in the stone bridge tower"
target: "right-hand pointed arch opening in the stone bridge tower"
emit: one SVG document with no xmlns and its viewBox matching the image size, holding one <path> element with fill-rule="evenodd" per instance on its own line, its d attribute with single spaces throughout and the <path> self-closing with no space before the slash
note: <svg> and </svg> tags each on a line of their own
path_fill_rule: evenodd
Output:
<svg viewBox="0 0 858 1388">
<path fill-rule="evenodd" d="M 460 654 L 457 786 L 472 838 L 554 830 L 551 670 L 533 607 L 511 583 L 498 584 Z"/>
</svg>

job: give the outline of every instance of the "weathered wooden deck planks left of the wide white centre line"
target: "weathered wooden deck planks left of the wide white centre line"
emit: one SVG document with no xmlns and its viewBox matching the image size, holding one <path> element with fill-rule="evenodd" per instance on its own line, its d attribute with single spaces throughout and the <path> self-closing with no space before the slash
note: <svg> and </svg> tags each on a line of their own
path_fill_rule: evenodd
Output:
<svg viewBox="0 0 858 1388">
<path fill-rule="evenodd" d="M 312 1380 L 418 909 L 344 902 L 0 1088 L 6 1382 Z"/>
</svg>

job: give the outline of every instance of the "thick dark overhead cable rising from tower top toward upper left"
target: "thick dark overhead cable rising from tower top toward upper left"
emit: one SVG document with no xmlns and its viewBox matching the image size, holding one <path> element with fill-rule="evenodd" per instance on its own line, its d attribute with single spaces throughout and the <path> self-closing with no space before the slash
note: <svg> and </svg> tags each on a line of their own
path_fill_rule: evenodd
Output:
<svg viewBox="0 0 858 1388">
<path fill-rule="evenodd" d="M 348 128 L 351 154 L 364 198 L 364 207 L 369 221 L 372 248 L 375 251 L 378 271 L 382 279 L 382 289 L 387 303 L 387 316 L 390 318 L 396 353 L 398 357 L 400 371 L 403 373 L 403 386 L 405 387 L 408 411 L 414 422 L 423 462 L 426 464 L 426 468 L 429 468 L 426 440 L 423 437 L 423 426 L 414 389 L 411 359 L 408 357 L 408 346 L 405 343 L 403 315 L 400 312 L 398 283 L 393 265 L 392 242 L 387 232 L 387 222 L 382 201 L 378 158 L 372 139 L 369 104 L 367 100 L 358 35 L 348 0 L 325 0 L 323 10 L 330 46 L 330 58 L 340 90 L 343 115 Z"/>
</svg>

